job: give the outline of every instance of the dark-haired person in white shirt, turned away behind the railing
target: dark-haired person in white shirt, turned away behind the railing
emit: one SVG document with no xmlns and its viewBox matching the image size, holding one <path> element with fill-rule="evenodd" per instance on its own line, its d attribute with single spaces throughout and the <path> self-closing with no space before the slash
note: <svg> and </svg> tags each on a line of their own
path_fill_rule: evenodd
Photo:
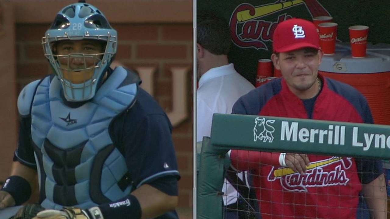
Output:
<svg viewBox="0 0 390 219">
<path fill-rule="evenodd" d="M 227 54 L 231 44 L 229 24 L 222 17 L 210 12 L 197 16 L 197 79 L 199 87 L 197 100 L 197 142 L 203 136 L 210 136 L 211 121 L 214 113 L 232 112 L 232 106 L 239 97 L 255 87 L 241 76 Z M 247 182 L 243 173 L 239 178 Z M 248 185 L 248 183 L 246 183 Z M 238 192 L 225 179 L 223 184 L 223 203 L 234 206 Z M 228 208 L 229 209 L 229 208 Z M 225 214 L 228 219 L 239 218 L 237 211 Z"/>
</svg>

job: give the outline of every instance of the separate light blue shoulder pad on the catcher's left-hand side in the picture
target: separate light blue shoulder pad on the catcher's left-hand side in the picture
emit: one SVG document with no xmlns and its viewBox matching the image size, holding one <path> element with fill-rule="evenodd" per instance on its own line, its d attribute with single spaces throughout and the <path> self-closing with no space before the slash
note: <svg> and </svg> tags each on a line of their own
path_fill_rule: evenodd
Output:
<svg viewBox="0 0 390 219">
<path fill-rule="evenodd" d="M 18 97 L 18 111 L 22 117 L 30 115 L 32 100 L 34 99 L 35 90 L 41 80 L 28 83 L 20 92 Z"/>
</svg>

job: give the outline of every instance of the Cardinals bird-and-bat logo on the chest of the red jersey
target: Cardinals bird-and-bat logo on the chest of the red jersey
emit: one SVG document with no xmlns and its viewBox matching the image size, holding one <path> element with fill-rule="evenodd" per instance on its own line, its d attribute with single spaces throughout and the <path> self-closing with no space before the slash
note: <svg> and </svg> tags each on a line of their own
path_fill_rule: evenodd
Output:
<svg viewBox="0 0 390 219">
<path fill-rule="evenodd" d="M 268 181 L 280 179 L 280 184 L 287 191 L 307 192 L 307 187 L 324 187 L 330 185 L 347 185 L 349 178 L 346 171 L 352 166 L 351 157 L 331 157 L 320 161 L 310 162 L 306 173 L 300 174 L 291 168 L 272 167 Z M 334 170 L 324 168 L 341 162 Z"/>
</svg>

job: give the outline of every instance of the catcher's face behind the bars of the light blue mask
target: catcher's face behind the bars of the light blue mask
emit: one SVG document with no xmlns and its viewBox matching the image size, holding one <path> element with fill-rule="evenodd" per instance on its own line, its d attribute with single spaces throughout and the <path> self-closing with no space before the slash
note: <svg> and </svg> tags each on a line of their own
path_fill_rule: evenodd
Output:
<svg viewBox="0 0 390 219">
<path fill-rule="evenodd" d="M 95 40 L 60 41 L 54 46 L 64 79 L 74 84 L 92 78 L 96 64 L 104 52 L 103 44 Z M 99 54 L 100 55 L 95 55 Z"/>
</svg>

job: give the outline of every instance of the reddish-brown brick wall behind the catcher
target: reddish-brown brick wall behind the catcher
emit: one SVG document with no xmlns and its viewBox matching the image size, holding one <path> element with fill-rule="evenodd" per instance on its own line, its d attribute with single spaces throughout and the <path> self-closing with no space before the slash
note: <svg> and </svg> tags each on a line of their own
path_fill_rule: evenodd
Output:
<svg viewBox="0 0 390 219">
<path fill-rule="evenodd" d="M 50 73 L 41 37 L 49 24 L 16 24 L 17 89 Z M 192 24 L 112 23 L 118 31 L 116 60 L 128 68 L 155 67 L 154 98 L 172 110 L 172 67 L 188 67 L 188 118 L 172 134 L 181 180 L 179 207 L 192 207 Z"/>
</svg>

